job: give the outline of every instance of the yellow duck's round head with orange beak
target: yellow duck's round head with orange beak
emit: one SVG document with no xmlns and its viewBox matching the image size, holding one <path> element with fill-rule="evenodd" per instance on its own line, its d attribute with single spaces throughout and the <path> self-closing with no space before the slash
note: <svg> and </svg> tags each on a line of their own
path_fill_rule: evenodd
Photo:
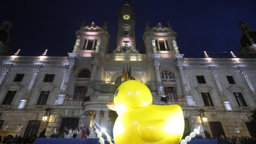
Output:
<svg viewBox="0 0 256 144">
<path fill-rule="evenodd" d="M 107 104 L 107 106 L 120 115 L 150 104 L 152 104 L 152 95 L 147 86 L 140 81 L 129 80 L 117 88 L 114 101 Z"/>
</svg>

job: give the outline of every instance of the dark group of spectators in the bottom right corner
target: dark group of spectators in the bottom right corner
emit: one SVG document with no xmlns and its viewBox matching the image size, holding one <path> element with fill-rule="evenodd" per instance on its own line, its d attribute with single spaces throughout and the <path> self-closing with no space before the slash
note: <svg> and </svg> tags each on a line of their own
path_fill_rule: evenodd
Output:
<svg viewBox="0 0 256 144">
<path fill-rule="evenodd" d="M 249 136 L 232 136 L 230 138 L 221 135 L 219 137 L 213 136 L 212 139 L 218 139 L 219 144 L 256 144 L 256 139 L 250 138 Z"/>
</svg>

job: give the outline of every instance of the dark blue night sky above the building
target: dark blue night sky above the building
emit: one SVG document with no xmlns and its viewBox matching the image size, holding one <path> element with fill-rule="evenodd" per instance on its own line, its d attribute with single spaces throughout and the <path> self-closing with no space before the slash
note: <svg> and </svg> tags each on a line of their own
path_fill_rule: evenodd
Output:
<svg viewBox="0 0 256 144">
<path fill-rule="evenodd" d="M 0 21 L 12 18 L 10 30 L 12 54 L 22 56 L 67 56 L 76 40 L 75 32 L 83 20 L 97 26 L 108 22 L 110 46 L 117 37 L 118 9 L 123 0 L 33 1 L 0 0 Z M 141 51 L 145 22 L 150 27 L 167 22 L 177 33 L 177 45 L 184 57 L 202 57 L 203 51 L 238 51 L 241 37 L 238 21 L 256 30 L 255 0 L 130 0 L 136 14 L 136 39 Z"/>
</svg>

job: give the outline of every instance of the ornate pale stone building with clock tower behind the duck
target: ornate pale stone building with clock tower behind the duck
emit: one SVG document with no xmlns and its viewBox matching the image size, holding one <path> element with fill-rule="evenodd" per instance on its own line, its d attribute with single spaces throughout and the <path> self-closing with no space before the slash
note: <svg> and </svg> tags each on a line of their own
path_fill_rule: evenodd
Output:
<svg viewBox="0 0 256 144">
<path fill-rule="evenodd" d="M 106 104 L 124 81 L 124 64 L 129 64 L 131 78 L 148 86 L 153 104 L 182 107 L 185 134 L 200 126 L 203 137 L 204 130 L 214 136 L 250 136 L 250 110 L 256 108 L 256 59 L 238 58 L 232 52 L 232 58 L 211 58 L 206 52 L 205 58 L 184 58 L 172 26 L 160 22 L 153 28 L 146 24 L 139 53 L 135 10 L 125 0 L 118 13 L 113 52 L 107 23 L 99 27 L 92 22 L 76 32 L 69 57 L 46 56 L 47 51 L 42 56 L 17 52 L 0 57 L 0 135 L 39 135 L 46 129 L 45 135 L 50 136 L 58 125 L 91 127 L 93 119 L 103 126 L 113 125 L 117 114 Z M 250 43 L 253 56 L 254 44 Z M 43 122 L 47 107 L 52 111 Z M 208 117 L 204 125 L 200 108 Z"/>
</svg>

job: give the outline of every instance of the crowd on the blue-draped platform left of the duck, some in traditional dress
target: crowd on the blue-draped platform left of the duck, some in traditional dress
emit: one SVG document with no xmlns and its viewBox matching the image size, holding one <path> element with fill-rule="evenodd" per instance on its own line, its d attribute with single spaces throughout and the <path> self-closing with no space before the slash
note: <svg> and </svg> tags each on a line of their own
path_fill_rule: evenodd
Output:
<svg viewBox="0 0 256 144">
<path fill-rule="evenodd" d="M 97 138 L 97 134 L 95 133 L 96 127 L 93 126 L 89 130 L 89 126 L 86 128 L 84 127 L 76 127 L 75 129 L 72 129 L 71 127 L 64 127 L 63 130 L 61 131 L 61 134 L 58 135 L 57 133 L 55 134 L 56 136 L 53 137 L 58 137 L 58 138 Z M 112 138 L 113 138 L 113 126 L 103 126 L 102 129 L 104 129 Z M 56 129 L 55 129 L 56 131 Z M 105 137 L 105 134 L 102 133 L 102 137 Z"/>
</svg>

